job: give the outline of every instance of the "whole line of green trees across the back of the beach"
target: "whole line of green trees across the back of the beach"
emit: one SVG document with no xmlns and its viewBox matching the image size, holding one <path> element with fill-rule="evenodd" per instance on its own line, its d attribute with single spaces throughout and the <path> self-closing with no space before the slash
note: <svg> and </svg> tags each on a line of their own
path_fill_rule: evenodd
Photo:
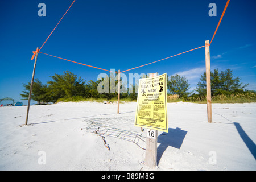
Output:
<svg viewBox="0 0 256 182">
<path fill-rule="evenodd" d="M 218 69 L 214 69 L 211 72 L 211 87 L 212 96 L 217 95 L 230 95 L 246 92 L 254 92 L 245 90 L 245 87 L 249 84 L 243 85 L 240 81 L 240 77 L 234 77 L 231 69 L 219 72 Z M 65 71 L 63 75 L 55 74 L 50 76 L 51 80 L 47 81 L 47 84 L 42 84 L 39 79 L 35 79 L 32 88 L 31 98 L 37 101 L 38 104 L 47 104 L 49 102 L 57 102 L 61 99 L 67 98 L 105 98 L 111 100 L 117 98 L 117 92 L 114 93 L 98 93 L 98 84 L 102 80 L 85 82 L 81 77 L 78 77 L 72 72 Z M 115 80 L 115 85 L 118 81 Z M 28 94 L 30 90 L 31 82 L 23 84 L 24 90 L 20 93 L 22 100 L 28 100 Z M 110 76 L 109 76 L 110 85 Z M 201 97 L 206 95 L 206 77 L 205 72 L 200 77 L 200 81 L 197 87 L 193 91 L 189 91 L 189 83 L 187 78 L 178 74 L 167 76 L 167 90 L 170 94 L 179 95 L 180 98 Z M 133 89 L 138 87 L 133 85 Z M 110 91 L 110 88 L 109 88 Z M 137 93 L 121 93 L 121 98 L 127 98 L 128 100 L 137 100 Z"/>
</svg>

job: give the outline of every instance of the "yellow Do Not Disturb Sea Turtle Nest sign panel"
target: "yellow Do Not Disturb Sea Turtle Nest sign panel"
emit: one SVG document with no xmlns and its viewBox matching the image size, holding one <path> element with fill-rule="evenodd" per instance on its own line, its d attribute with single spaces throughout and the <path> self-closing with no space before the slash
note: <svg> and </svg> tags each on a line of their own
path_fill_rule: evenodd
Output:
<svg viewBox="0 0 256 182">
<path fill-rule="evenodd" d="M 168 133 L 166 77 L 139 80 L 135 126 Z"/>
</svg>

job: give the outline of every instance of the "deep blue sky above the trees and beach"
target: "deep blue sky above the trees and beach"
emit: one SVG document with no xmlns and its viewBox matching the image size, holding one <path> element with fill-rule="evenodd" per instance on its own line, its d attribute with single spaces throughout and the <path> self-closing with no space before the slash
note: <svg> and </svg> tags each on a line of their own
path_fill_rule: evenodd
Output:
<svg viewBox="0 0 256 182">
<path fill-rule="evenodd" d="M 38 4 L 46 4 L 46 17 Z M 20 101 L 22 83 L 31 80 L 32 51 L 42 46 L 73 0 L 2 0 L 0 2 L 0 98 Z M 209 3 L 217 17 L 210 17 Z M 204 46 L 225 7 L 225 0 L 76 0 L 41 52 L 104 69 L 121 71 Z M 256 2 L 231 0 L 210 46 L 211 70 L 233 70 L 247 89 L 256 90 Z M 85 81 L 108 73 L 38 55 L 35 78 L 43 84 L 55 73 L 71 71 Z M 129 73 L 178 73 L 195 89 L 205 71 L 200 48 Z M 23 101 L 26 104 L 26 101 Z"/>
</svg>

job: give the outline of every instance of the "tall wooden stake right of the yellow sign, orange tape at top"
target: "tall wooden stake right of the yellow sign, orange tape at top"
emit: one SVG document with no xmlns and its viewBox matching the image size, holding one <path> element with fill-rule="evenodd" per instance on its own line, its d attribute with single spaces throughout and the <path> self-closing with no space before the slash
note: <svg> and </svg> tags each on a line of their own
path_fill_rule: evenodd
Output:
<svg viewBox="0 0 256 182">
<path fill-rule="evenodd" d="M 207 119 L 208 123 L 212 123 L 212 96 L 210 91 L 210 45 L 209 40 L 205 41 L 205 67 L 207 82 Z"/>
</svg>

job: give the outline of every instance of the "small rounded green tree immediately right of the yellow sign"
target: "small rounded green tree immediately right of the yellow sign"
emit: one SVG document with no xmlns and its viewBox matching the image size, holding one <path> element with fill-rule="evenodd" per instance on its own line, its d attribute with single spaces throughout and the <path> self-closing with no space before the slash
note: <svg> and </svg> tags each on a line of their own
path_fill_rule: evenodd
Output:
<svg viewBox="0 0 256 182">
<path fill-rule="evenodd" d="M 187 97 L 189 92 L 189 84 L 187 78 L 180 75 L 172 75 L 170 78 L 167 76 L 167 89 L 171 94 L 177 94 L 180 97 Z"/>
</svg>

